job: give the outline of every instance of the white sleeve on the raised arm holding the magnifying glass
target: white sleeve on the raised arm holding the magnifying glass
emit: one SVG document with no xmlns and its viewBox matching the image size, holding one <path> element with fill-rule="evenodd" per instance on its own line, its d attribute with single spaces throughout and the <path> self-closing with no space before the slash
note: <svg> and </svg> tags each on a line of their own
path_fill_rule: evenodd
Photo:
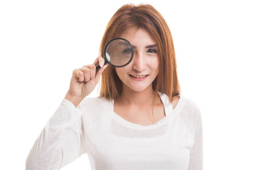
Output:
<svg viewBox="0 0 256 170">
<path fill-rule="evenodd" d="M 26 170 L 59 170 L 86 153 L 82 111 L 63 99 L 26 158 Z"/>
</svg>

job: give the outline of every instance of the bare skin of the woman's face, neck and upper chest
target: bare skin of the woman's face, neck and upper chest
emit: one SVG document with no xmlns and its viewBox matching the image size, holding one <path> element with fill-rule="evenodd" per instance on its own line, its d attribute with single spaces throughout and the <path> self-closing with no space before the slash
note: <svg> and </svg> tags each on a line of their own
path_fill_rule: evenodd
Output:
<svg viewBox="0 0 256 170">
<path fill-rule="evenodd" d="M 115 68 L 116 74 L 122 81 L 122 93 L 114 101 L 114 112 L 123 119 L 140 124 L 151 125 L 165 117 L 163 103 L 160 96 L 154 105 L 154 118 L 152 115 L 152 102 L 154 93 L 152 82 L 159 72 L 157 47 L 146 48 L 156 42 L 150 34 L 143 30 L 131 28 L 120 37 L 125 38 L 135 47 L 134 58 L 125 67 Z M 130 77 L 132 75 L 148 75 L 145 80 L 138 81 Z M 179 97 L 174 97 L 172 101 L 173 109 L 177 105 Z"/>
</svg>

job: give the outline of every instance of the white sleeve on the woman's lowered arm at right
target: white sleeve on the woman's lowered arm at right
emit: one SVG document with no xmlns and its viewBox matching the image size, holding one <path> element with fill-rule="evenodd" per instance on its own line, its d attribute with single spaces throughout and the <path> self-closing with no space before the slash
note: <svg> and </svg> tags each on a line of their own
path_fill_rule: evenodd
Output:
<svg viewBox="0 0 256 170">
<path fill-rule="evenodd" d="M 203 126 L 201 111 L 195 129 L 195 143 L 190 152 L 188 170 L 203 170 Z"/>
</svg>

